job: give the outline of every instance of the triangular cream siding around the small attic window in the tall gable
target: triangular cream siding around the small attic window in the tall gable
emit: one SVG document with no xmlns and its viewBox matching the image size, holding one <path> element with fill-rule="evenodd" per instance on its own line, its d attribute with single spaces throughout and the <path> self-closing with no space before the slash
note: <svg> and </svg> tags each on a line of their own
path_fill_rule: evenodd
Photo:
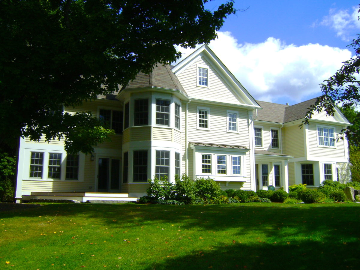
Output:
<svg viewBox="0 0 360 270">
<path fill-rule="evenodd" d="M 197 86 L 198 65 L 208 67 L 209 87 Z M 245 103 L 243 100 L 238 98 L 237 95 L 235 95 L 234 91 L 230 89 L 219 73 L 217 73 L 203 57 L 199 58 L 191 66 L 181 72 L 177 78 L 190 97 L 203 100 L 221 100 L 232 104 Z"/>
</svg>

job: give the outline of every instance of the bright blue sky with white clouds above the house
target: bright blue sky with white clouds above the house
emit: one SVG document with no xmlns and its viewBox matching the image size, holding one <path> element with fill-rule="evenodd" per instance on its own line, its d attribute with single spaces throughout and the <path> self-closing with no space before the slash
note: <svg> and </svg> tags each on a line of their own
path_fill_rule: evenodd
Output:
<svg viewBox="0 0 360 270">
<path fill-rule="evenodd" d="M 246 10 L 230 15 L 209 46 L 255 99 L 296 104 L 321 95 L 319 84 L 354 54 L 346 46 L 360 33 L 357 4 L 235 0 Z"/>
</svg>

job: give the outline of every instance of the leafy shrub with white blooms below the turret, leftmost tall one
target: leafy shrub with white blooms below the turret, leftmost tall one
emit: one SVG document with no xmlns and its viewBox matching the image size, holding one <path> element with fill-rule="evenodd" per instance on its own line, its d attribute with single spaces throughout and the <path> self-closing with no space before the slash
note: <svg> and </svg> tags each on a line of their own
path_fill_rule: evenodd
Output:
<svg viewBox="0 0 360 270">
<path fill-rule="evenodd" d="M 154 180 L 149 180 L 149 183 L 150 187 L 147 189 L 146 193 L 152 201 L 156 199 L 175 199 L 175 187 L 173 184 L 169 183 L 167 179 L 159 180 L 155 177 Z"/>
</svg>

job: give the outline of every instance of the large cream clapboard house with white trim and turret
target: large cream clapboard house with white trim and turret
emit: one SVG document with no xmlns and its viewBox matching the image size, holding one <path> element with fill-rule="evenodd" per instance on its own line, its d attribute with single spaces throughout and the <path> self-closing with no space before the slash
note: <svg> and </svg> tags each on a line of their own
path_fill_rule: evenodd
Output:
<svg viewBox="0 0 360 270">
<path fill-rule="evenodd" d="M 211 177 L 222 189 L 346 181 L 347 143 L 332 139 L 349 123 L 337 111 L 300 129 L 311 102 L 257 102 L 203 45 L 173 67 L 139 73 L 113 95 L 64 108 L 90 111 L 116 132 L 93 154 L 22 139 L 15 197 L 136 200 L 148 179 L 174 182 L 183 173 Z"/>
</svg>

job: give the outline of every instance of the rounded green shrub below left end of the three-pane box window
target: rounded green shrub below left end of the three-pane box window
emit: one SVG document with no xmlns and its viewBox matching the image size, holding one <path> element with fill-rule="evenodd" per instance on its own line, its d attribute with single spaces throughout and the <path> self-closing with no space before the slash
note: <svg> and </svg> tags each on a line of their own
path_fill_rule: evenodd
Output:
<svg viewBox="0 0 360 270">
<path fill-rule="evenodd" d="M 220 185 L 210 177 L 197 178 L 195 181 L 196 195 L 206 202 L 216 201 L 221 196 Z"/>
</svg>

